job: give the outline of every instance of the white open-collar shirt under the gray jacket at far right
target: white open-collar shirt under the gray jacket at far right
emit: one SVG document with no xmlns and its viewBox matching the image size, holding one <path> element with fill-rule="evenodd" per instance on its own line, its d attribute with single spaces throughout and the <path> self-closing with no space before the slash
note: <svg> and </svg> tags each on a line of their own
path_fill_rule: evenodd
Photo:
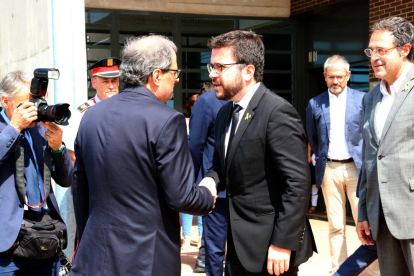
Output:
<svg viewBox="0 0 414 276">
<path fill-rule="evenodd" d="M 390 113 L 395 97 L 397 96 L 398 91 L 401 89 L 404 77 L 407 75 L 408 71 L 411 70 L 411 67 L 412 63 L 408 62 L 400 77 L 392 85 L 390 85 L 391 95 L 387 91 L 387 82 L 385 80 L 381 81 L 380 91 L 382 94 L 382 100 L 380 106 L 378 107 L 378 111 L 375 112 L 375 131 L 377 132 L 377 137 L 379 140 L 381 140 L 385 121 L 387 120 L 388 113 Z"/>
</svg>

